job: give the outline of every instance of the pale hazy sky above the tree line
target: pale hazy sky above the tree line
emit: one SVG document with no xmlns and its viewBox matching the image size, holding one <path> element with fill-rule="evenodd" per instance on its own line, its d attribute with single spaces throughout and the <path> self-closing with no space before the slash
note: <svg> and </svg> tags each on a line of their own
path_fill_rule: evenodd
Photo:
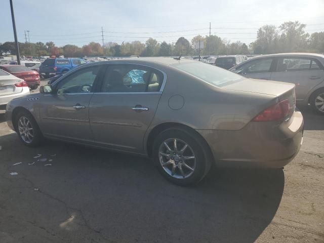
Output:
<svg viewBox="0 0 324 243">
<path fill-rule="evenodd" d="M 175 43 L 181 36 L 211 33 L 250 44 L 262 25 L 285 21 L 307 24 L 306 32 L 324 31 L 324 0 L 13 0 L 19 42 L 53 41 L 79 47 L 89 42 L 118 44 Z M 9 0 L 0 0 L 0 43 L 14 41 Z M 27 38 L 28 40 L 28 38 Z"/>
</svg>

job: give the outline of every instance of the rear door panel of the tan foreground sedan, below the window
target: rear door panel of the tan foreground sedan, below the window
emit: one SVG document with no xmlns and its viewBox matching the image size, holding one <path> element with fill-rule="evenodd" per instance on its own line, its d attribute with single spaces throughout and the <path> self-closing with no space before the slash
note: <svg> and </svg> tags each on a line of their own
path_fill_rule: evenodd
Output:
<svg viewBox="0 0 324 243">
<path fill-rule="evenodd" d="M 109 148 L 143 152 L 144 135 L 160 96 L 159 93 L 94 94 L 89 116 L 95 142 Z"/>
</svg>

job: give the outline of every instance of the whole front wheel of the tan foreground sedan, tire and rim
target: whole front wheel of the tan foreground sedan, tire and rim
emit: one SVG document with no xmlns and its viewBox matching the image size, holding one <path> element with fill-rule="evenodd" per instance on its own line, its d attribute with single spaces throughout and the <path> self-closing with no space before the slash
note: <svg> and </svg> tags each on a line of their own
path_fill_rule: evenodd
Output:
<svg viewBox="0 0 324 243">
<path fill-rule="evenodd" d="M 42 132 L 39 130 L 34 117 L 29 112 L 20 111 L 16 115 L 15 124 L 18 137 L 24 145 L 35 147 L 42 142 Z"/>
</svg>

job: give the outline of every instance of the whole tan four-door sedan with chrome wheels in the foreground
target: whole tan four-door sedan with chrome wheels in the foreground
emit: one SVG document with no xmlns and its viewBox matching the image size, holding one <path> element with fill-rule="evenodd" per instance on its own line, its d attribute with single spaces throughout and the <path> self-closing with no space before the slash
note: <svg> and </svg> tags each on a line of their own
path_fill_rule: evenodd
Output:
<svg viewBox="0 0 324 243">
<path fill-rule="evenodd" d="M 296 156 L 295 85 L 264 82 L 186 59 L 88 63 L 12 100 L 6 119 L 27 146 L 45 137 L 140 154 L 188 185 L 212 163 L 281 168 Z"/>
</svg>

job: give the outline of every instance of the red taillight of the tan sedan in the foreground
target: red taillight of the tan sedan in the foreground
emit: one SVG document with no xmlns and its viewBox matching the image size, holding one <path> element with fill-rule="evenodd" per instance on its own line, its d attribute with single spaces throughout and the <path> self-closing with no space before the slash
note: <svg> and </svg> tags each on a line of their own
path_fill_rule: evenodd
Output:
<svg viewBox="0 0 324 243">
<path fill-rule="evenodd" d="M 283 100 L 262 111 L 253 121 L 273 121 L 285 118 L 290 110 L 289 100 Z"/>
</svg>

